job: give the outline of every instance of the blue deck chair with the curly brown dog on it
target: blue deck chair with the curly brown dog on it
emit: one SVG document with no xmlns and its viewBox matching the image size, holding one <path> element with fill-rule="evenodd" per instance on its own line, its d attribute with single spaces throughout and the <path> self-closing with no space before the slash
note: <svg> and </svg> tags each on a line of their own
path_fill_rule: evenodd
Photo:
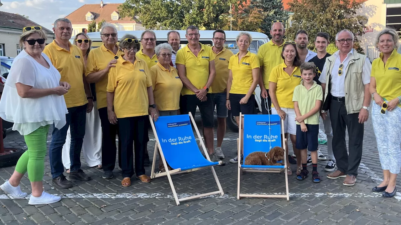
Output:
<svg viewBox="0 0 401 225">
<path fill-rule="evenodd" d="M 244 117 L 244 160 L 243 164 L 238 160 L 238 187 L 237 199 L 240 197 L 259 197 L 259 198 L 286 198 L 290 201 L 288 192 L 288 175 L 287 175 L 287 160 L 286 152 L 284 154 L 284 166 L 264 166 L 264 165 L 245 165 L 245 158 L 256 151 L 268 152 L 273 147 L 284 146 L 286 149 L 286 139 L 284 138 L 284 125 L 283 120 L 278 115 L 242 115 Z M 241 157 L 241 126 L 239 123 L 239 139 L 238 139 L 238 159 Z M 246 172 L 264 172 L 264 173 L 280 173 L 285 171 L 286 176 L 286 195 L 260 195 L 260 194 L 245 194 L 240 193 L 240 174 L 242 171 Z"/>
</svg>

